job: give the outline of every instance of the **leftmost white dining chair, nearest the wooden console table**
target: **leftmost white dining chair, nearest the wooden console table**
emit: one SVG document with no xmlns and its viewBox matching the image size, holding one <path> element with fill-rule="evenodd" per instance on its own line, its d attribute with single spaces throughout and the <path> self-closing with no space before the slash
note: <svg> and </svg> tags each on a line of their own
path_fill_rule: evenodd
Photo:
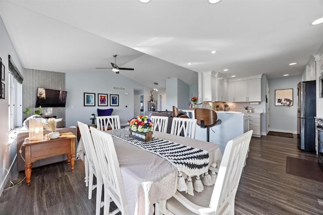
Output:
<svg viewBox="0 0 323 215">
<path fill-rule="evenodd" d="M 100 208 L 103 206 L 101 203 L 101 196 L 102 196 L 102 187 L 103 187 L 103 181 L 102 181 L 102 175 L 101 170 L 99 168 L 99 163 L 97 160 L 97 155 L 95 152 L 95 148 L 93 145 L 92 136 L 89 130 L 89 127 L 87 124 L 84 124 L 82 122 L 77 121 L 77 124 L 79 126 L 80 132 L 81 132 L 81 138 L 83 141 L 83 146 L 85 150 L 85 156 L 84 156 L 84 163 L 87 162 L 85 166 L 87 166 L 88 171 L 87 175 L 89 178 L 88 181 L 88 199 L 92 198 L 92 190 L 96 188 L 96 204 L 95 204 L 95 214 L 100 214 Z M 93 185 L 93 176 L 96 177 L 96 184 Z"/>
</svg>

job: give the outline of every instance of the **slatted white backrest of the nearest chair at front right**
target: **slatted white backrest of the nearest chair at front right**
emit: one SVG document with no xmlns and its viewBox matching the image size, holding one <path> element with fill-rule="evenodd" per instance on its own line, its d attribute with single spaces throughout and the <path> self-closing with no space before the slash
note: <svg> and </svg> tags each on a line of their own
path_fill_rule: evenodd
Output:
<svg viewBox="0 0 323 215">
<path fill-rule="evenodd" d="M 209 207 L 214 209 L 216 214 L 222 214 L 221 212 L 234 208 L 234 199 L 249 149 L 251 135 L 252 130 L 249 130 L 228 141 L 209 204 Z M 232 211 L 233 213 L 234 211 Z"/>
</svg>

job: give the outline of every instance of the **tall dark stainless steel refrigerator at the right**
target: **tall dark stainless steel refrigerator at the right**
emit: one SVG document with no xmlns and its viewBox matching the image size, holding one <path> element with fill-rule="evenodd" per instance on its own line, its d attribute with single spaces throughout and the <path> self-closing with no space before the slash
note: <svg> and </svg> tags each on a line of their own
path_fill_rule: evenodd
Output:
<svg viewBox="0 0 323 215">
<path fill-rule="evenodd" d="M 298 83 L 297 91 L 297 145 L 306 152 L 315 152 L 315 81 Z"/>
</svg>

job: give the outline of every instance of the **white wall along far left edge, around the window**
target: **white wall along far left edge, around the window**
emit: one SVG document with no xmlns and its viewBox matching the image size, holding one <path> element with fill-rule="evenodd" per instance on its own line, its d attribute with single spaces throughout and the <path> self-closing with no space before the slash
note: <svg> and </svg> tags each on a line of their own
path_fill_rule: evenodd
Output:
<svg viewBox="0 0 323 215">
<path fill-rule="evenodd" d="M 1 6 L 1 5 L 0 5 Z M 4 25 L 2 18 L 0 17 L 0 57 L 5 65 L 5 99 L 0 99 L 0 194 L 3 191 L 4 185 L 6 183 L 7 170 L 10 170 L 11 165 L 17 155 L 17 144 L 14 141 L 11 146 L 7 146 L 9 141 L 8 131 L 9 131 L 9 99 L 8 99 L 8 77 L 9 77 L 9 67 L 8 67 L 8 55 L 11 55 L 17 68 L 19 69 L 21 75 L 24 75 L 24 69 L 21 65 L 20 59 L 16 53 L 16 50 L 12 44 L 12 41 L 8 35 L 7 29 Z M 22 113 L 20 116 L 22 118 Z M 16 166 L 12 168 L 17 168 Z"/>
</svg>

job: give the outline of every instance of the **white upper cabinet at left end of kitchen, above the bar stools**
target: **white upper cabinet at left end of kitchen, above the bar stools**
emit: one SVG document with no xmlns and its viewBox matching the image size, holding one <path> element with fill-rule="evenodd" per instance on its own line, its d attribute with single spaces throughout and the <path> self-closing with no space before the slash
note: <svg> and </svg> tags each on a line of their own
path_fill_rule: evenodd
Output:
<svg viewBox="0 0 323 215">
<path fill-rule="evenodd" d="M 228 101 L 228 79 L 214 71 L 201 73 L 202 101 Z"/>
</svg>

